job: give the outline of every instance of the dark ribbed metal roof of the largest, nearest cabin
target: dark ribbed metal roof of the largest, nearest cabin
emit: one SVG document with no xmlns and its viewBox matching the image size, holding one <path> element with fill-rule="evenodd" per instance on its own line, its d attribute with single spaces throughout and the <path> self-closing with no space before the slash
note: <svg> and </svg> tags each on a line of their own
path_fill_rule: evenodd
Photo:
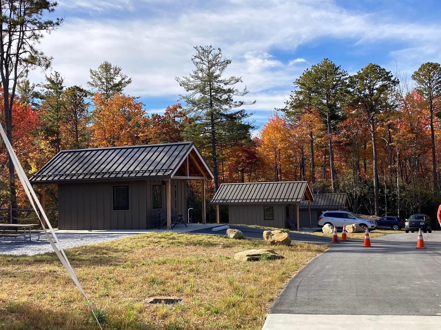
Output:
<svg viewBox="0 0 441 330">
<path fill-rule="evenodd" d="M 62 150 L 35 173 L 30 182 L 171 176 L 191 149 L 197 151 L 193 142 Z M 211 175 L 208 167 L 206 169 Z"/>
</svg>

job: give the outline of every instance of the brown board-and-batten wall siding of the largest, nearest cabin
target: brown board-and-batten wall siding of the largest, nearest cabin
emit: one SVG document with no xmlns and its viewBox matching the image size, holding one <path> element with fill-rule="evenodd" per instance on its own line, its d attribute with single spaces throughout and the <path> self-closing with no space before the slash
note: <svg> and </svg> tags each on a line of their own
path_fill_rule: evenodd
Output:
<svg viewBox="0 0 441 330">
<path fill-rule="evenodd" d="M 153 209 L 153 185 L 162 180 L 134 180 L 96 183 L 65 183 L 58 186 L 58 227 L 60 229 L 150 229 L 160 226 L 160 209 Z M 113 187 L 129 186 L 129 209 L 113 210 Z M 186 186 L 183 180 L 171 180 L 172 209 L 187 219 Z"/>
</svg>

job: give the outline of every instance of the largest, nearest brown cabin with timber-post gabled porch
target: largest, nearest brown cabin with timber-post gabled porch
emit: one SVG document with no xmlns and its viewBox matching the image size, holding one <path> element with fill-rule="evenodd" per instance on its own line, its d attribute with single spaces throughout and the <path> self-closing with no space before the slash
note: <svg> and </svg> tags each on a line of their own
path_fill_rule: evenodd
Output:
<svg viewBox="0 0 441 330">
<path fill-rule="evenodd" d="M 62 150 L 31 178 L 44 192 L 58 185 L 58 228 L 172 229 L 172 212 L 187 221 L 187 180 L 213 174 L 193 142 Z M 44 196 L 41 196 L 44 200 Z M 161 213 L 162 212 L 162 213 Z"/>
</svg>

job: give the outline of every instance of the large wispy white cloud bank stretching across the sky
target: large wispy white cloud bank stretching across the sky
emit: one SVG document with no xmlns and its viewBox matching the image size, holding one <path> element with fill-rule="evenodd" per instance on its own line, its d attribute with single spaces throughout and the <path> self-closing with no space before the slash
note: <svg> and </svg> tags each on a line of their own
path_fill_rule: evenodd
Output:
<svg viewBox="0 0 441 330">
<path fill-rule="evenodd" d="M 152 14 L 156 7 L 167 10 L 158 9 Z M 320 38 L 344 39 L 357 47 L 395 40 L 408 45 L 389 54 L 391 62 L 396 60 L 402 67 L 400 62 L 411 62 L 411 66 L 421 62 L 421 52 L 426 57 L 441 53 L 438 25 L 383 21 L 380 15 L 346 11 L 331 0 L 198 4 L 184 0 L 66 0 L 60 3 L 61 9 L 64 26 L 46 36 L 41 49 L 54 57 L 53 70 L 60 71 L 66 84 L 86 86 L 89 69 L 108 60 L 132 77 L 133 83 L 127 88 L 131 95 L 177 99 L 183 90 L 174 78 L 192 70 L 193 46 L 213 44 L 232 59 L 227 74 L 243 77 L 243 85 L 252 92 L 247 97 L 258 101 L 249 108 L 256 111 L 283 106 L 282 99 L 292 89 L 292 81 L 308 64 L 304 58 L 285 63 L 273 56 L 280 50 L 292 54 L 299 45 Z M 71 17 L 68 13 L 73 9 L 91 13 L 83 18 Z M 118 16 L 101 17 L 98 14 L 102 11 Z M 126 12 L 131 15 L 124 15 Z M 425 48 L 426 44 L 431 47 Z M 43 75 L 35 71 L 31 78 L 41 81 Z"/>
</svg>

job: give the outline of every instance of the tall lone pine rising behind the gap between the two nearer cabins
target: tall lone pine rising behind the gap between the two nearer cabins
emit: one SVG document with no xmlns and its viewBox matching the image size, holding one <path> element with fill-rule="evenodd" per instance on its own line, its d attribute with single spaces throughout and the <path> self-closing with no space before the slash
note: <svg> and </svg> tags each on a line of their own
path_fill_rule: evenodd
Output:
<svg viewBox="0 0 441 330">
<path fill-rule="evenodd" d="M 248 89 L 242 91 L 235 84 L 242 83 L 241 77 L 224 78 L 224 71 L 231 63 L 222 58 L 221 48 L 213 46 L 194 47 L 196 55 L 191 59 L 195 70 L 188 77 L 176 81 L 189 92 L 179 95 L 187 104 L 187 115 L 192 124 L 187 127 L 186 134 L 198 140 L 202 148 L 210 149 L 213 161 L 214 187 L 219 187 L 218 161 L 232 147 L 251 143 L 250 130 L 254 128 L 246 122 L 250 117 L 245 110 L 233 110 L 244 105 L 254 104 L 243 100 L 235 100 L 235 96 L 245 96 Z"/>
</svg>

